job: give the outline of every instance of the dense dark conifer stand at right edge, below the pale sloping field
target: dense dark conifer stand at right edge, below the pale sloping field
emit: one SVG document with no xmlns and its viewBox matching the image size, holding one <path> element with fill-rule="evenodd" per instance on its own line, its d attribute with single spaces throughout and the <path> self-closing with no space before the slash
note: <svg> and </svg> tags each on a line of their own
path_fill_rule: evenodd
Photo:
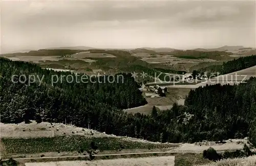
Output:
<svg viewBox="0 0 256 166">
<path fill-rule="evenodd" d="M 235 86 L 220 84 L 190 91 L 185 100 L 201 139 L 222 140 L 251 135 L 256 115 L 256 78 Z"/>
</svg>

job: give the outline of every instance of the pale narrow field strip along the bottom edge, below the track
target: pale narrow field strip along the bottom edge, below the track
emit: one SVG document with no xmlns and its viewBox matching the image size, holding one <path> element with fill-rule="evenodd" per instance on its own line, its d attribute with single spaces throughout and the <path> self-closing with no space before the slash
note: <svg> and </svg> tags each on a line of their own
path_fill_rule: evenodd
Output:
<svg viewBox="0 0 256 166">
<path fill-rule="evenodd" d="M 175 156 L 162 156 L 162 157 L 144 157 L 144 158 L 121 158 L 121 159 L 111 159 L 111 160 L 95 160 L 95 161 L 59 161 L 59 162 L 31 162 L 26 163 L 26 166 L 82 166 L 82 165 L 91 165 L 91 166 L 156 166 L 156 165 L 168 165 L 174 166 Z"/>
</svg>

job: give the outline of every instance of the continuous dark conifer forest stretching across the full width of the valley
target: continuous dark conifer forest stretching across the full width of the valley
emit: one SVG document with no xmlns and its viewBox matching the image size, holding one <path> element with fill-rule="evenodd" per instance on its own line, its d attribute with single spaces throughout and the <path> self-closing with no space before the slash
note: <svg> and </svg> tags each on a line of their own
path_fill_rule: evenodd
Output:
<svg viewBox="0 0 256 166">
<path fill-rule="evenodd" d="M 123 112 L 146 103 L 139 84 L 124 75 L 124 83 L 62 83 L 51 86 L 51 75 L 68 75 L 26 63 L 0 59 L 0 113 L 4 123 L 29 120 L 65 122 L 115 135 L 159 142 L 198 142 L 249 136 L 256 145 L 256 78 L 235 86 L 214 85 L 190 91 L 185 106 L 151 115 Z M 45 75 L 28 86 L 11 82 L 13 74 Z M 103 79 L 102 77 L 100 79 Z"/>
</svg>

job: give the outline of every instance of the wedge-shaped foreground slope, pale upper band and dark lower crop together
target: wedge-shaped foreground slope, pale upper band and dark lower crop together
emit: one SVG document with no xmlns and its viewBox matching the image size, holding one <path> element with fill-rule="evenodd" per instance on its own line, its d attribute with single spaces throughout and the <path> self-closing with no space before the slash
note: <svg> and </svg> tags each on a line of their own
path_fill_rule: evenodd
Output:
<svg viewBox="0 0 256 166">
<path fill-rule="evenodd" d="M 83 153 L 79 151 L 90 149 L 91 142 L 94 142 L 100 151 L 118 151 L 119 153 L 143 152 L 145 150 L 148 152 L 151 149 L 163 151 L 159 149 L 167 150 L 178 146 L 178 144 L 160 144 L 131 137 L 108 135 L 71 125 L 46 122 L 39 124 L 34 121 L 30 124 L 1 123 L 0 129 L 1 140 L 5 147 L 5 152 L 2 151 L 2 154 L 10 156 L 10 154 L 18 153 L 16 157 L 25 154 L 25 157 L 38 157 L 42 153 L 46 156 L 47 154 L 49 154 L 48 156 L 82 155 Z M 48 132 L 54 133 L 54 136 L 47 136 Z"/>
</svg>

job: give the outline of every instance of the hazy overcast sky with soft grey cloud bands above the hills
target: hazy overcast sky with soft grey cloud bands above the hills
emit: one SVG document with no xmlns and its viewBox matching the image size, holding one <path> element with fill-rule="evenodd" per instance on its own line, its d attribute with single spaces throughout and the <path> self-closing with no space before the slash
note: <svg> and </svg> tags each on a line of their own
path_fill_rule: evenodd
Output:
<svg viewBox="0 0 256 166">
<path fill-rule="evenodd" d="M 58 46 L 255 46 L 255 1 L 1 3 L 2 52 Z"/>
</svg>

